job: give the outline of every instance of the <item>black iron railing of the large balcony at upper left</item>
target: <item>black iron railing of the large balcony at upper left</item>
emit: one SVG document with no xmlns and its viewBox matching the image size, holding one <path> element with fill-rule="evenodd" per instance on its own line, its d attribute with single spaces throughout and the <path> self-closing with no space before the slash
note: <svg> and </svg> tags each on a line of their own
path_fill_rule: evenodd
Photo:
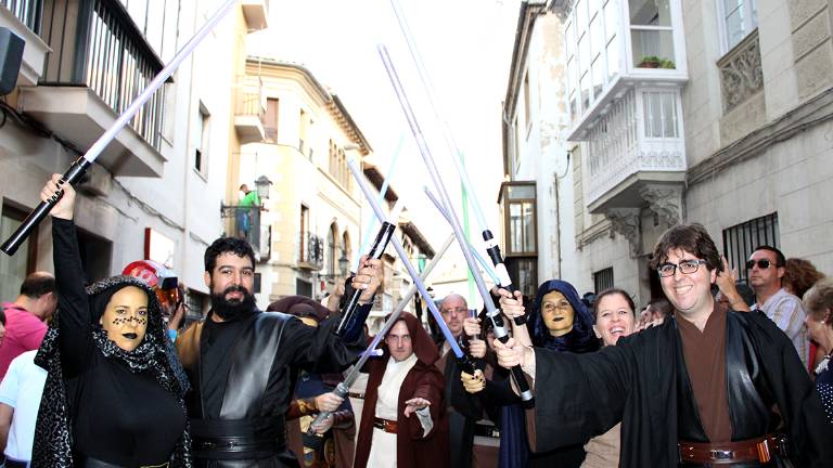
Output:
<svg viewBox="0 0 833 468">
<path fill-rule="evenodd" d="M 118 0 L 46 0 L 41 38 L 52 48 L 40 84 L 81 86 L 120 115 L 163 68 Z M 165 88 L 130 120 L 153 147 L 162 143 Z"/>
</svg>

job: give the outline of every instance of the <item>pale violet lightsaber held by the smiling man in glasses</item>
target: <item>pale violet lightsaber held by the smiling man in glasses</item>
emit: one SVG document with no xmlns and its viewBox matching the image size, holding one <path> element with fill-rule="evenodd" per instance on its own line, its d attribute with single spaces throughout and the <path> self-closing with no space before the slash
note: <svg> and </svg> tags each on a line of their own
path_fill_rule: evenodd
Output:
<svg viewBox="0 0 833 468">
<path fill-rule="evenodd" d="M 408 96 L 405 94 L 402 84 L 399 81 L 399 76 L 396 74 L 396 69 L 394 68 L 394 64 L 390 61 L 390 56 L 387 54 L 387 49 L 384 46 L 379 46 L 377 49 L 380 56 L 382 57 L 382 62 L 385 65 L 387 76 L 390 78 L 390 84 L 394 87 L 396 96 L 399 101 L 402 112 L 405 113 L 405 117 L 408 120 L 411 133 L 413 133 L 413 136 L 416 140 L 416 147 L 420 150 L 420 155 L 425 161 L 425 168 L 428 170 L 428 174 L 431 174 L 434 186 L 439 193 L 440 202 L 448 212 L 448 218 L 451 221 L 451 227 L 454 230 L 454 236 L 457 237 L 457 242 L 460 245 L 460 250 L 462 250 L 463 257 L 465 257 L 465 263 L 469 266 L 469 270 L 472 272 L 474 282 L 477 285 L 480 297 L 483 298 L 484 306 L 486 306 L 486 313 L 492 318 L 492 323 L 495 324 L 495 337 L 498 338 L 501 342 L 507 342 L 509 341 L 509 333 L 502 326 L 503 321 L 500 318 L 500 312 L 495 308 L 495 302 L 491 300 L 491 295 L 489 294 L 488 289 L 486 289 L 486 284 L 483 282 L 483 277 L 477 274 L 474 257 L 472 256 L 471 249 L 469 249 L 469 240 L 465 238 L 463 227 L 460 225 L 460 221 L 458 220 L 457 213 L 454 212 L 454 207 L 451 205 L 451 198 L 448 196 L 446 186 L 443 184 L 443 180 L 439 178 L 439 171 L 434 164 L 434 158 L 432 157 L 431 151 L 428 150 L 427 143 L 425 142 L 425 138 L 422 134 L 420 125 L 416 122 L 416 117 L 413 114 L 411 104 L 408 101 Z M 524 378 L 521 366 L 518 365 L 513 367 L 511 372 L 512 378 L 515 380 L 515 386 L 520 390 L 521 400 L 525 402 L 525 404 L 531 406 L 534 404 L 533 392 L 529 389 L 529 385 L 527 384 L 526 378 Z"/>
</svg>

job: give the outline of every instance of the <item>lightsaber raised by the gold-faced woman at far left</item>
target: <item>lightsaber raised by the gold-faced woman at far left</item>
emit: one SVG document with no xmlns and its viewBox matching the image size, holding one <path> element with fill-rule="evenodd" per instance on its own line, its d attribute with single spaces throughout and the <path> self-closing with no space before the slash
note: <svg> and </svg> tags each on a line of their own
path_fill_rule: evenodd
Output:
<svg viewBox="0 0 833 468">
<path fill-rule="evenodd" d="M 127 122 L 133 118 L 139 109 L 148 102 L 148 100 L 151 99 L 153 93 L 155 93 L 156 90 L 162 87 L 165 80 L 174 75 L 174 72 L 177 69 L 177 67 L 179 67 L 179 64 L 182 63 L 182 61 L 185 60 L 189 54 L 191 54 L 191 52 L 203 40 L 203 38 L 205 38 L 205 36 L 210 32 L 214 26 L 216 26 L 217 23 L 219 23 L 220 20 L 226 16 L 226 13 L 229 12 L 231 6 L 235 5 L 236 3 L 238 0 L 226 0 L 226 3 L 223 3 L 217 10 L 214 16 L 212 16 L 210 20 L 208 20 L 208 22 L 205 23 L 203 27 L 200 28 L 200 30 L 197 30 L 196 34 L 194 34 L 194 36 L 184 46 L 182 46 L 182 49 L 180 49 L 179 52 L 174 55 L 174 58 L 171 58 L 170 62 L 165 65 L 165 67 L 153 78 L 153 80 L 148 83 L 148 88 L 145 88 L 141 93 L 139 93 L 138 96 L 136 96 L 133 102 L 131 102 L 125 112 L 118 116 L 113 126 L 110 127 L 101 136 L 99 136 L 98 140 L 95 140 L 95 143 L 93 143 L 92 146 L 87 150 L 87 153 L 85 153 L 84 156 L 73 162 L 73 166 L 69 167 L 69 170 L 64 173 L 64 179 L 66 179 L 68 183 L 74 184 L 78 181 L 78 179 L 80 179 L 84 172 L 92 165 L 92 162 L 95 161 L 101 152 L 103 152 L 104 148 L 113 141 L 113 139 L 116 138 L 116 134 L 118 134 L 118 132 L 121 131 Z M 85 161 L 81 162 L 81 159 Z M 38 224 L 40 224 L 40 222 L 43 220 L 43 218 L 47 217 L 49 211 L 52 210 L 56 203 L 57 200 L 40 203 L 37 207 L 35 207 L 29 216 L 26 217 L 26 220 L 23 222 L 23 224 L 21 224 L 14 234 L 12 234 L 11 237 L 9 237 L 2 246 L 0 246 L 0 250 L 10 256 L 14 255 L 21 244 L 26 240 L 26 238 L 31 234 L 31 231 L 34 231 Z"/>
</svg>

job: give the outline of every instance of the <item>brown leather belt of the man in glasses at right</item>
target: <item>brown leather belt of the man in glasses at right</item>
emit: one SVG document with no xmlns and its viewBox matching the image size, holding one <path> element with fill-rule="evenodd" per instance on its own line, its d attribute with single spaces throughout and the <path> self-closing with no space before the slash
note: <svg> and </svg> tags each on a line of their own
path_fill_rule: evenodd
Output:
<svg viewBox="0 0 833 468">
<path fill-rule="evenodd" d="M 767 463 L 785 446 L 784 438 L 768 434 L 736 442 L 702 443 L 680 441 L 680 463 L 732 465 L 742 461 Z"/>
</svg>

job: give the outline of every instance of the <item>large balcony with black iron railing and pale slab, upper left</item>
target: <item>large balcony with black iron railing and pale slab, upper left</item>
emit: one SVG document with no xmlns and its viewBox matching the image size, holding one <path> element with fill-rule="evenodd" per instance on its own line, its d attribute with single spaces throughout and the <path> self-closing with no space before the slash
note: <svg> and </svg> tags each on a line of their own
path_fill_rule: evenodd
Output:
<svg viewBox="0 0 833 468">
<path fill-rule="evenodd" d="M 53 53 L 23 112 L 86 150 L 112 127 L 163 64 L 118 0 L 46 0 L 40 36 Z M 165 88 L 156 91 L 99 157 L 117 176 L 159 176 Z"/>
</svg>

